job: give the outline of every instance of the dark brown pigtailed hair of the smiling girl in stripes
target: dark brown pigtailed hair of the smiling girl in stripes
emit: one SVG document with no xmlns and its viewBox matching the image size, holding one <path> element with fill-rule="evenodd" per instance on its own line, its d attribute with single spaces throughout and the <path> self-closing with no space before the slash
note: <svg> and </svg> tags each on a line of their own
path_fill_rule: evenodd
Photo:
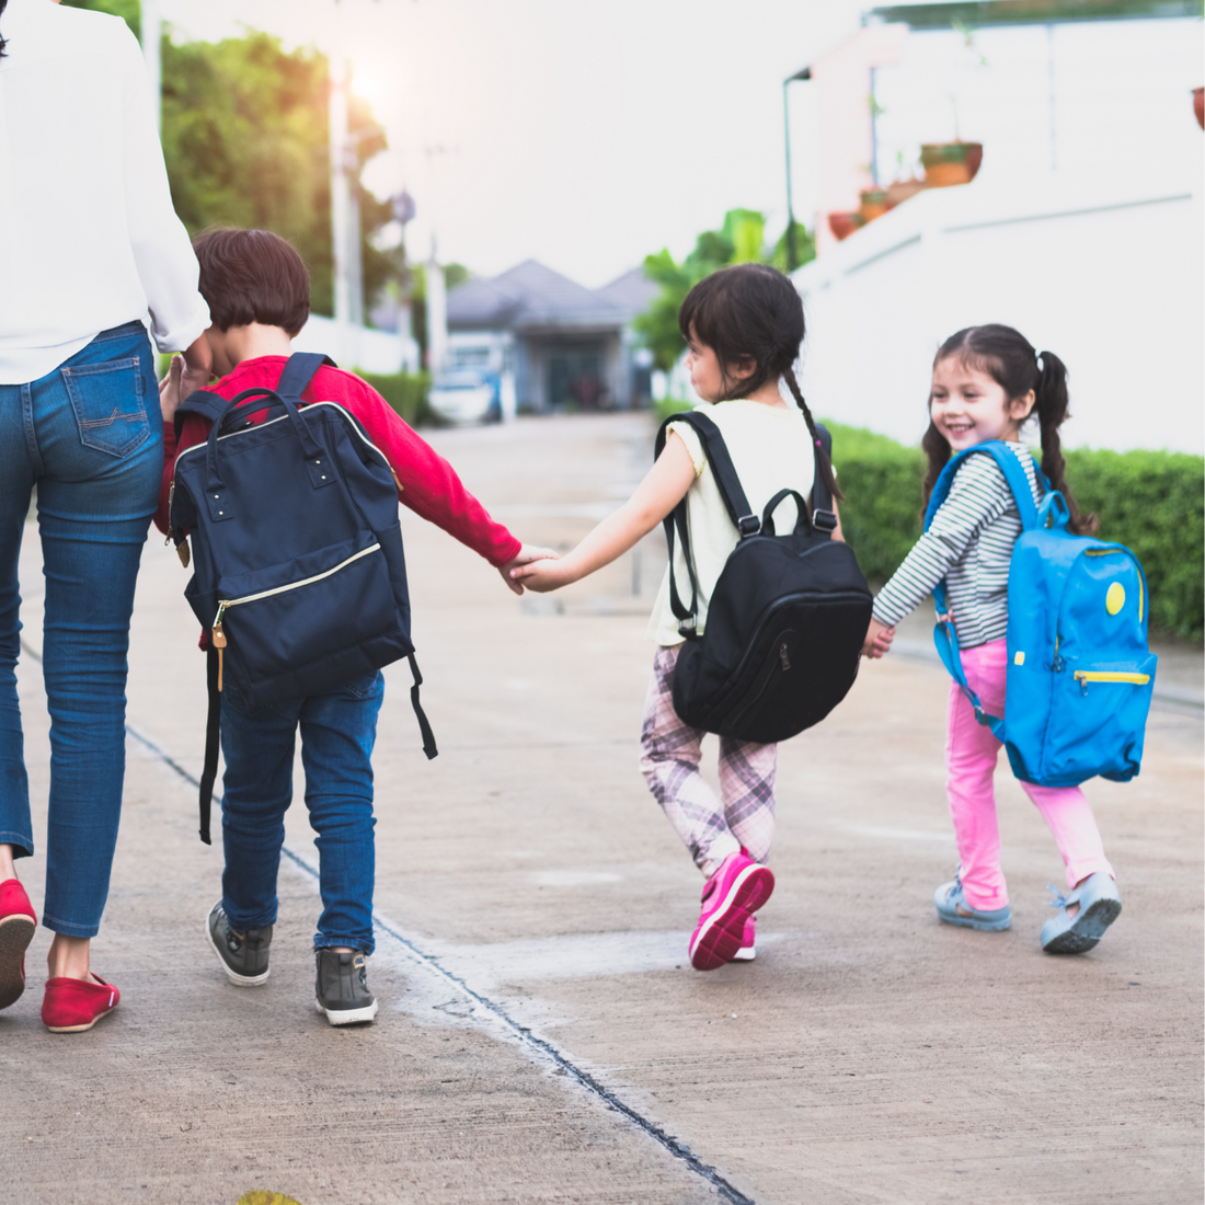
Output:
<svg viewBox="0 0 1205 1205">
<path fill-rule="evenodd" d="M 1051 488 L 1065 499 L 1071 512 L 1068 527 L 1076 535 L 1092 535 L 1099 527 L 1095 515 L 1081 515 L 1080 507 L 1066 483 L 1066 463 L 1058 429 L 1070 417 L 1068 413 L 1066 365 L 1053 353 L 1034 351 L 1033 345 L 1012 327 L 989 323 L 984 327 L 966 327 L 947 339 L 933 358 L 934 368 L 950 357 L 957 357 L 968 368 L 986 372 L 1001 389 L 1009 401 L 1024 398 L 1034 390 L 1031 415 L 1038 419 L 1042 441 L 1042 472 Z M 1039 365 L 1039 359 L 1041 364 Z M 922 490 L 923 506 L 928 507 L 929 495 L 950 460 L 950 443 L 929 421 L 929 429 L 921 440 L 929 458 Z"/>
</svg>

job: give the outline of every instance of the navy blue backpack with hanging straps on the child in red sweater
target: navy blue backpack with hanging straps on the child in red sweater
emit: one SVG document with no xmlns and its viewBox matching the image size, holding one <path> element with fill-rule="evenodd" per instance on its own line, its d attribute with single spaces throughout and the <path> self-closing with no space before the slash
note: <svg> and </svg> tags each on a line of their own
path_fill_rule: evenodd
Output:
<svg viewBox="0 0 1205 1205">
<path fill-rule="evenodd" d="M 212 421 L 176 458 L 171 535 L 193 577 L 184 596 L 208 634 L 210 718 L 201 776 L 201 840 L 217 774 L 221 698 L 234 682 L 251 710 L 327 694 L 402 657 L 423 752 L 435 737 L 418 701 L 398 482 L 342 406 L 304 405 L 323 364 L 295 353 L 276 389 L 227 400 L 193 393 L 176 411 Z M 249 416 L 266 412 L 264 421 Z"/>
</svg>

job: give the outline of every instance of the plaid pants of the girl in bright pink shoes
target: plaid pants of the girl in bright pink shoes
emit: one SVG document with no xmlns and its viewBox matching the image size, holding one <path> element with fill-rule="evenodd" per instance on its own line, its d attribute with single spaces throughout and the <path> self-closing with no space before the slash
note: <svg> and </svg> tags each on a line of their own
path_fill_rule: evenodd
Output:
<svg viewBox="0 0 1205 1205">
<path fill-rule="evenodd" d="M 682 723 L 674 710 L 674 666 L 680 645 L 660 647 L 645 700 L 640 770 L 669 822 L 710 878 L 741 846 L 765 862 L 774 840 L 774 772 L 777 745 L 719 737 L 719 793 L 699 774 L 701 728 Z"/>
</svg>

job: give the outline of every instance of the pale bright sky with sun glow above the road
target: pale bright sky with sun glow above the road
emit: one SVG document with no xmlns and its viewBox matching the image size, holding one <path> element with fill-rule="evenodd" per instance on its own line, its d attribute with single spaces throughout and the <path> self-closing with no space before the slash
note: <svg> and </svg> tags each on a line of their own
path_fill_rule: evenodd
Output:
<svg viewBox="0 0 1205 1205">
<path fill-rule="evenodd" d="M 159 0 L 177 36 L 243 28 L 342 48 L 389 139 L 411 258 L 492 276 L 536 258 L 590 287 L 724 212 L 786 225 L 782 81 L 853 34 L 851 0 Z M 816 113 L 789 89 L 794 210 L 811 224 Z"/>
</svg>

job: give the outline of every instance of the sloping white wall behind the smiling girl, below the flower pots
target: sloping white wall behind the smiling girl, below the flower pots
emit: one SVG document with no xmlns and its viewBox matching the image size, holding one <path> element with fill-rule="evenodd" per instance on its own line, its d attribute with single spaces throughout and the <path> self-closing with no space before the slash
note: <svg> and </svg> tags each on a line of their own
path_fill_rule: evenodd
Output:
<svg viewBox="0 0 1205 1205">
<path fill-rule="evenodd" d="M 851 235 L 794 276 L 812 410 L 915 443 L 940 343 L 999 322 L 1066 363 L 1069 446 L 1205 452 L 1201 165 L 1198 137 L 1162 183 L 981 177 Z"/>
</svg>

